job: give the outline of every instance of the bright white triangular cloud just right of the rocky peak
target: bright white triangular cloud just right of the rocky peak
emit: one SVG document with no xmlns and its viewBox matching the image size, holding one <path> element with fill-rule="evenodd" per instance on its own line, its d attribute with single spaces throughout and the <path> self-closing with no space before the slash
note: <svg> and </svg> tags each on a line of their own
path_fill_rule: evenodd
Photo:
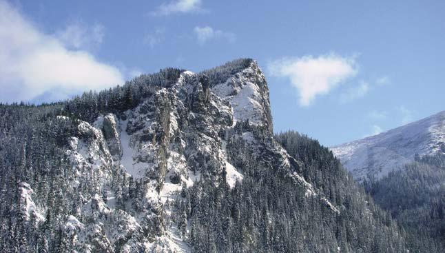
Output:
<svg viewBox="0 0 445 253">
<path fill-rule="evenodd" d="M 269 63 L 269 71 L 277 77 L 291 80 L 298 90 L 302 106 L 311 105 L 315 97 L 329 93 L 357 72 L 354 58 L 336 54 L 280 59 Z"/>
</svg>

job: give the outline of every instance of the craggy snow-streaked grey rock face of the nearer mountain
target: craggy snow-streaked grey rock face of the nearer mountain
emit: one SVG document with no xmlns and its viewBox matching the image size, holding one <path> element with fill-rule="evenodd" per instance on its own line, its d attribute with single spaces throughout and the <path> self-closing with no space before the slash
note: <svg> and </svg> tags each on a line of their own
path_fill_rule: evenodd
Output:
<svg viewBox="0 0 445 253">
<path fill-rule="evenodd" d="M 214 181 L 216 185 L 225 179 L 231 187 L 242 180 L 242 174 L 229 163 L 225 146 L 225 139 L 235 134 L 236 122 L 245 122 L 272 134 L 269 90 L 254 61 L 223 83 L 209 83 L 206 74 L 182 72 L 176 83 L 159 88 L 136 108 L 124 112 L 120 120 L 114 114 L 107 114 L 96 121 L 97 128 L 82 122 L 83 129 L 96 137 L 90 143 L 73 140 L 87 143 L 81 153 L 74 151 L 76 145 L 73 144 L 74 150 L 70 151 L 75 154 L 73 165 L 83 164 L 85 159 L 104 168 L 101 170 L 104 175 L 100 176 L 103 182 L 98 183 L 100 188 L 112 185 L 105 174 L 112 174 L 107 170 L 114 168 L 114 173 L 121 174 L 125 180 L 131 178 L 140 183 L 141 196 L 121 201 L 123 198 L 115 196 L 112 189 L 107 193 L 107 203 L 98 194 L 92 196 L 92 208 L 80 212 L 79 216 L 92 216 L 95 220 L 92 224 L 102 222 L 101 215 L 115 217 L 112 219 L 118 222 L 103 231 L 98 227 L 89 229 L 80 221 L 72 222 L 77 218 L 71 217 L 68 223 L 74 225 L 69 225 L 70 229 L 74 226 L 75 234 L 87 234 L 79 237 L 79 247 L 96 247 L 87 238 L 105 234 L 99 237 L 103 249 L 118 245 L 124 252 L 187 252 L 185 241 L 174 240 L 179 237 L 174 227 L 163 223 L 169 215 L 168 208 L 163 206 L 166 201 L 176 199 L 182 188 L 199 179 Z M 291 157 L 278 143 L 261 147 L 256 140 L 260 137 L 251 132 L 238 136 L 251 143 L 252 152 L 267 151 L 266 156 L 270 156 L 274 165 L 289 172 L 298 169 L 298 163 L 294 159 L 289 161 Z M 289 176 L 294 176 L 297 183 L 306 183 L 297 174 Z M 134 210 L 118 210 L 116 207 L 120 205 L 132 205 Z M 114 232 L 116 226 L 123 226 L 119 233 Z M 147 232 L 144 227 L 152 227 L 153 231 Z"/>
</svg>

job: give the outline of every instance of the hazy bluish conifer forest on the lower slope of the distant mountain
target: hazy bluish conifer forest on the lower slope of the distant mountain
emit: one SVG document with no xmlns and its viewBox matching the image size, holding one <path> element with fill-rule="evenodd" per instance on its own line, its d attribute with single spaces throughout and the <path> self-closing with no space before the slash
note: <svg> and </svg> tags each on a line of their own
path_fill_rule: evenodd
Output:
<svg viewBox="0 0 445 253">
<path fill-rule="evenodd" d="M 416 162 L 378 181 L 364 181 L 375 202 L 406 230 L 413 252 L 445 248 L 445 154 Z"/>
</svg>

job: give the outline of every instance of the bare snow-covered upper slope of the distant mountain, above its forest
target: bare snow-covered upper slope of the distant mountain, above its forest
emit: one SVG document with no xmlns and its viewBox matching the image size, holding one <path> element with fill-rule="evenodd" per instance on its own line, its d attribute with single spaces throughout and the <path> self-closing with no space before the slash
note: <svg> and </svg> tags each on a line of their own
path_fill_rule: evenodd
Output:
<svg viewBox="0 0 445 253">
<path fill-rule="evenodd" d="M 331 150 L 355 179 L 380 179 L 414 161 L 416 154 L 445 152 L 445 111 Z"/>
</svg>

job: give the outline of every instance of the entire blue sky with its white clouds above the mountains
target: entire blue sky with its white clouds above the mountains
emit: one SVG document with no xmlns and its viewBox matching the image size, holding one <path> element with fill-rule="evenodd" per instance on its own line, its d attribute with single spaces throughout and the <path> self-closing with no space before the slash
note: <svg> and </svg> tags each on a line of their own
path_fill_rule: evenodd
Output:
<svg viewBox="0 0 445 253">
<path fill-rule="evenodd" d="M 0 102 L 249 57 L 275 132 L 336 145 L 442 110 L 445 1 L 4 1 Z"/>
</svg>

